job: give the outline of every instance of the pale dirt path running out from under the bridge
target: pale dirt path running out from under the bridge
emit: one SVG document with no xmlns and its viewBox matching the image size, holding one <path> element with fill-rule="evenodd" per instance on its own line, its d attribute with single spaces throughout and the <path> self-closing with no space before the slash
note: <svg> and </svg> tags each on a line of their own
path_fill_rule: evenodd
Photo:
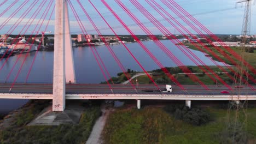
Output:
<svg viewBox="0 0 256 144">
<path fill-rule="evenodd" d="M 92 128 L 91 135 L 89 139 L 86 141 L 86 144 L 98 144 L 103 143 L 101 140 L 101 133 L 106 123 L 107 117 L 112 109 L 107 109 L 106 104 L 103 104 L 101 107 L 102 116 L 99 117 L 94 124 L 94 128 Z"/>
</svg>

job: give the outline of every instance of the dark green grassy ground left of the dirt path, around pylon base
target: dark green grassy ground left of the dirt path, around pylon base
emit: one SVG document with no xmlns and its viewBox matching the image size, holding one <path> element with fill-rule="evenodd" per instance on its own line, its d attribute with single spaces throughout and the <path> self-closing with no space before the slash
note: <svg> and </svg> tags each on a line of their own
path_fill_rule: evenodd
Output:
<svg viewBox="0 0 256 144">
<path fill-rule="evenodd" d="M 31 103 L 32 104 L 32 103 Z M 37 103 L 35 103 L 37 104 Z M 96 119 L 101 115 L 99 106 L 89 106 L 78 124 L 59 126 L 26 126 L 37 113 L 37 105 L 22 108 L 8 128 L 0 130 L 0 143 L 85 143 Z"/>
</svg>

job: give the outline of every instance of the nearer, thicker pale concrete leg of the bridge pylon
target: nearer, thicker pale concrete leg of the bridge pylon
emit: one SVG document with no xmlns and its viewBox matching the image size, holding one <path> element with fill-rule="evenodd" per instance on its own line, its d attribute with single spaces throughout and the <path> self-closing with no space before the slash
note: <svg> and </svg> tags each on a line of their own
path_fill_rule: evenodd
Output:
<svg viewBox="0 0 256 144">
<path fill-rule="evenodd" d="M 65 110 L 64 0 L 55 1 L 53 111 Z"/>
</svg>

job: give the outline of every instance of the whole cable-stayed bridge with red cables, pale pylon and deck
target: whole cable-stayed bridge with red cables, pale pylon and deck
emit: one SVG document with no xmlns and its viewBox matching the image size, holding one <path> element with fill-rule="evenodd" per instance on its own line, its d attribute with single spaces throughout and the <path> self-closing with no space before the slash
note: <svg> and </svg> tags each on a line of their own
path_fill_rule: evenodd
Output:
<svg viewBox="0 0 256 144">
<path fill-rule="evenodd" d="M 0 3 L 1 5 L 5 4 L 7 1 L 3 1 Z M 7 23 L 14 19 L 15 15 L 19 13 L 19 11 L 26 7 L 26 4 L 29 3 L 29 0 L 25 0 L 20 5 L 16 5 L 18 3 L 18 0 L 13 1 L 13 3 L 10 3 L 9 6 L 2 11 L 0 16 L 3 16 L 5 13 L 8 13 L 11 8 L 18 7 L 16 10 L 13 10 L 10 16 L 1 24 L 0 30 L 4 29 L 7 25 Z M 144 23 L 139 20 L 139 18 L 132 13 L 132 11 L 127 7 L 123 2 L 120 0 L 115 0 L 114 2 L 121 8 L 123 11 L 130 17 L 132 21 L 136 23 L 138 28 L 142 29 L 144 33 L 148 35 L 148 37 L 154 41 L 154 43 L 158 46 L 157 48 L 160 51 L 163 51 L 166 53 L 168 58 L 171 59 L 173 63 L 178 65 L 178 67 L 184 72 L 189 73 L 188 77 L 194 81 L 195 83 L 198 83 L 198 85 L 194 86 L 188 86 L 188 85 L 182 85 L 179 80 L 176 79 L 176 77 L 170 73 L 165 68 L 165 65 L 163 65 L 159 59 L 152 53 L 146 45 L 142 43 L 142 41 L 137 37 L 136 33 L 131 30 L 131 28 L 127 25 L 127 22 L 122 19 L 122 17 L 115 12 L 112 5 L 109 5 L 107 1 L 102 0 L 101 3 L 104 7 L 106 7 L 107 10 L 109 10 L 110 14 L 113 15 L 114 19 L 117 20 L 120 25 L 123 27 L 125 31 L 127 31 L 133 39 L 136 40 L 138 45 L 141 49 L 143 49 L 147 55 L 153 59 L 156 65 L 165 73 L 165 75 L 173 82 L 175 85 L 172 85 L 173 92 L 172 93 L 162 93 L 161 89 L 164 88 L 164 85 L 158 85 L 152 75 L 148 74 L 146 69 L 144 69 L 143 65 L 138 61 L 138 58 L 135 57 L 134 53 L 130 51 L 130 49 L 127 47 L 127 45 L 123 42 L 123 40 L 119 37 L 117 32 L 115 31 L 115 28 L 111 25 L 111 23 L 108 22 L 108 19 L 104 17 L 104 15 L 100 12 L 100 10 L 95 6 L 94 2 L 88 0 L 86 1 L 92 8 L 94 8 L 95 13 L 98 14 L 98 16 L 101 18 L 101 20 L 108 26 L 110 31 L 117 37 L 117 39 L 120 41 L 120 43 L 125 47 L 125 50 L 127 53 L 130 54 L 130 56 L 135 60 L 135 62 L 139 65 L 139 67 L 143 70 L 143 72 L 148 76 L 148 78 L 152 81 L 152 85 L 140 85 L 139 87 L 136 86 L 136 84 L 133 81 L 130 81 L 129 85 L 112 85 L 109 81 L 111 79 L 108 68 L 106 68 L 106 65 L 104 65 L 104 62 L 101 59 L 101 56 L 98 55 L 97 49 L 94 45 L 92 45 L 88 40 L 88 46 L 90 47 L 93 56 L 95 58 L 95 61 L 98 64 L 98 67 L 100 67 L 100 70 L 104 76 L 104 78 L 107 81 L 106 85 L 88 85 L 88 84 L 76 84 L 76 77 L 75 77 L 75 69 L 74 69 L 74 60 L 73 60 L 73 50 L 72 50 L 72 43 L 71 43 L 71 32 L 70 32 L 70 23 L 69 23 L 69 13 L 68 10 L 71 10 L 72 14 L 75 17 L 75 20 L 77 21 L 79 28 L 81 29 L 81 32 L 83 35 L 89 34 L 86 26 L 83 23 L 83 19 L 81 19 L 81 16 L 78 15 L 78 11 L 82 11 L 83 15 L 86 17 L 86 21 L 90 23 L 92 27 L 94 27 L 96 33 L 99 35 L 100 39 L 103 41 L 103 43 L 106 45 L 106 49 L 111 53 L 113 58 L 115 59 L 115 62 L 119 65 L 120 69 L 123 71 L 126 78 L 130 79 L 130 74 L 127 73 L 124 65 L 120 62 L 120 59 L 118 58 L 117 54 L 113 51 L 112 47 L 109 45 L 108 41 L 103 37 L 102 32 L 100 31 L 100 28 L 97 26 L 97 22 L 92 19 L 88 11 L 86 11 L 86 7 L 88 5 L 83 5 L 84 2 L 82 1 L 70 1 L 70 0 L 60 0 L 60 1 L 33 1 L 33 5 L 31 7 L 28 7 L 26 11 L 22 15 L 20 15 L 19 19 L 14 23 L 11 28 L 6 28 L 8 31 L 8 35 L 11 34 L 21 23 L 24 24 L 24 27 L 21 29 L 19 35 L 25 35 L 26 32 L 28 32 L 28 29 L 30 29 L 31 26 L 36 25 L 34 29 L 30 29 L 32 32 L 36 32 L 34 35 L 38 35 L 40 32 L 40 29 L 44 27 L 43 32 L 48 31 L 48 25 L 52 19 L 52 16 L 54 14 L 55 10 L 55 40 L 54 40 L 54 70 L 53 70 L 53 84 L 29 84 L 29 83 L 16 83 L 16 80 L 19 76 L 20 71 L 22 70 L 22 66 L 25 63 L 25 60 L 21 63 L 21 65 L 17 66 L 16 63 L 18 63 L 20 56 L 18 56 L 18 59 L 15 63 L 16 67 L 19 67 L 18 74 L 16 75 L 13 83 L 2 83 L 1 91 L 0 91 L 0 98 L 15 98 L 15 99 L 53 99 L 53 110 L 54 111 L 63 111 L 65 109 L 65 100 L 66 99 L 136 99 L 138 100 L 138 104 L 140 103 L 139 100 L 141 99 L 174 99 L 174 100 L 187 100 L 187 104 L 190 105 L 191 101 L 189 100 L 256 100 L 255 95 L 255 86 L 251 83 L 255 84 L 255 65 L 249 64 L 247 61 L 245 61 L 245 58 L 238 55 L 234 50 L 232 50 L 229 46 L 227 46 L 223 41 L 220 41 L 216 35 L 214 35 L 212 32 L 210 32 L 205 26 L 203 26 L 199 21 L 197 21 L 192 15 L 190 15 L 187 11 L 185 11 L 178 3 L 176 3 L 173 0 L 160 0 L 162 4 L 159 4 L 155 0 L 146 0 L 145 3 L 147 3 L 150 7 L 152 7 L 157 14 L 159 14 L 161 17 L 164 18 L 164 20 L 168 23 L 168 25 L 174 27 L 177 29 L 181 35 L 183 35 L 184 38 L 187 39 L 195 39 L 196 35 L 199 35 L 201 38 L 205 39 L 207 43 L 212 43 L 212 41 L 218 41 L 220 45 L 224 47 L 218 47 L 214 46 L 213 48 L 218 51 L 219 53 L 222 53 L 223 56 L 228 59 L 230 63 L 234 65 L 234 67 L 231 67 L 230 65 L 223 62 L 223 57 L 220 57 L 216 54 L 215 51 L 213 51 L 210 47 L 203 44 L 201 40 L 195 39 L 191 41 L 190 43 L 194 45 L 197 49 L 199 49 L 201 52 L 210 52 L 213 57 L 218 59 L 218 61 L 223 62 L 223 65 L 228 68 L 231 73 L 236 74 L 231 75 L 230 73 L 225 73 L 234 83 L 240 82 L 243 83 L 245 86 L 243 88 L 236 88 L 235 86 L 229 85 L 225 82 L 217 73 L 214 72 L 213 69 L 208 67 L 205 62 L 203 62 L 200 58 L 198 58 L 190 49 L 188 49 L 184 45 L 176 45 L 177 49 L 181 50 L 185 56 L 187 56 L 190 61 L 194 62 L 200 70 L 203 71 L 208 77 L 210 77 L 213 81 L 218 81 L 223 86 L 218 87 L 216 85 L 206 85 L 204 82 L 202 82 L 199 77 L 192 73 L 192 71 L 185 66 L 185 64 L 181 61 L 181 57 L 178 57 L 170 51 L 170 49 L 167 48 L 166 45 L 162 44 L 162 42 L 154 35 L 154 33 L 146 26 Z M 130 4 L 134 5 L 136 9 L 138 9 L 139 13 L 141 13 L 146 19 L 150 21 L 150 23 L 158 29 L 163 35 L 167 37 L 168 40 L 170 40 L 170 43 L 178 44 L 180 41 L 177 39 L 176 35 L 174 35 L 170 29 L 166 28 L 166 26 L 158 21 L 158 19 L 155 18 L 155 16 L 150 13 L 141 3 L 137 1 L 130 0 Z M 74 7 L 73 4 L 77 4 L 79 6 L 79 10 Z M 34 9 L 36 5 L 39 5 L 37 9 Z M 162 7 L 162 5 L 165 5 L 168 10 Z M 41 8 L 42 7 L 42 8 Z M 45 8 L 45 9 L 43 9 Z M 40 15 L 39 20 L 37 22 L 34 22 L 36 20 L 37 15 L 40 11 L 43 9 L 43 14 Z M 34 10 L 34 11 L 33 11 Z M 33 11 L 33 12 L 32 12 Z M 175 16 L 177 15 L 179 19 L 181 19 L 183 22 L 179 22 Z M 27 18 L 30 17 L 30 18 Z M 26 19 L 26 21 L 25 21 Z M 36 23 L 36 24 L 35 24 Z M 185 25 L 187 26 L 184 26 Z M 188 29 L 187 27 L 190 27 L 193 29 Z M 206 33 L 206 34 L 205 34 Z M 34 35 L 31 35 L 29 40 L 34 43 L 35 38 Z M 2 41 L 6 41 L 8 37 L 2 38 Z M 18 39 L 18 36 L 15 38 Z M 13 40 L 13 43 L 15 40 Z M 41 40 L 42 41 L 42 40 Z M 21 49 L 21 52 L 25 52 L 25 47 L 28 44 L 25 44 L 24 49 Z M 39 46 L 41 43 L 39 44 Z M 6 51 L 1 58 L 1 61 L 5 61 L 4 64 L 8 61 L 9 57 L 11 56 L 11 53 L 14 51 L 15 47 L 13 49 L 10 49 L 11 51 Z M 31 50 L 32 46 L 29 46 L 27 50 Z M 36 51 L 37 55 L 38 50 Z M 36 55 L 34 56 L 34 59 L 36 59 Z M 27 57 L 28 55 L 26 55 Z M 5 59 L 4 59 L 5 57 Z M 6 58 L 7 57 L 7 58 Z M 26 59 L 26 58 L 25 58 Z M 225 68 L 213 61 L 213 63 L 217 65 L 217 67 L 220 70 L 225 71 Z M 34 62 L 34 61 L 33 61 Z M 238 63 L 239 62 L 239 63 Z M 241 64 L 240 64 L 241 63 Z M 0 70 L 4 67 L 4 64 L 0 68 Z M 13 69 L 15 68 L 15 65 L 13 66 Z M 246 66 L 246 68 L 244 67 Z M 30 76 L 30 71 L 33 67 L 33 63 L 31 64 L 31 68 L 28 71 L 27 78 Z M 10 74 L 12 73 L 13 69 L 11 69 L 9 75 L 7 76 L 7 79 L 9 78 Z M 240 73 L 237 73 L 237 71 L 240 71 Z M 239 79 L 237 79 L 237 77 Z M 247 78 L 245 78 L 247 77 Z M 144 91 L 145 89 L 156 89 L 153 92 L 147 92 Z M 223 94 L 220 93 L 220 91 L 229 91 L 229 94 Z"/>
</svg>

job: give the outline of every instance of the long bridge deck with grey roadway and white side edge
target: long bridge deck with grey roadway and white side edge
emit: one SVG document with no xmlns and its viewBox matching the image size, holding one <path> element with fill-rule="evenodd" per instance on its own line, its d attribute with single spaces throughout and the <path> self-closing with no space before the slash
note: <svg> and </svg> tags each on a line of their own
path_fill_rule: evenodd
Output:
<svg viewBox="0 0 256 144">
<path fill-rule="evenodd" d="M 209 90 L 196 85 L 183 85 L 185 90 L 173 85 L 172 93 L 148 92 L 156 90 L 154 85 L 139 85 L 136 90 L 131 85 L 66 85 L 66 99 L 177 99 L 177 100 L 256 100 L 255 86 L 235 88 L 209 85 Z M 10 83 L 0 84 L 1 99 L 53 99 L 53 85 L 17 83 L 10 91 Z M 165 85 L 159 85 L 165 88 Z M 10 92 L 9 92 L 10 91 Z M 230 94 L 220 93 L 229 91 Z M 239 95 L 239 96 L 238 96 Z"/>
</svg>

